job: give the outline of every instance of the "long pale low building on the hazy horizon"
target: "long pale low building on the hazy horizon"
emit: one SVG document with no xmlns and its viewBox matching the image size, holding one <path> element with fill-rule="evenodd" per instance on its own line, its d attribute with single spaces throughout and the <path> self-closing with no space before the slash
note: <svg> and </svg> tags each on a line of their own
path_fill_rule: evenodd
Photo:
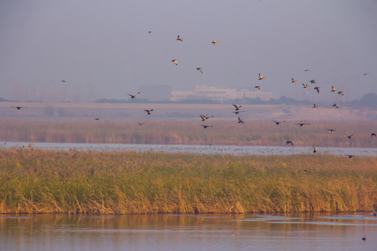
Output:
<svg viewBox="0 0 377 251">
<path fill-rule="evenodd" d="M 209 100 L 234 100 L 237 98 L 260 98 L 261 100 L 270 100 L 272 92 L 270 91 L 249 91 L 242 89 L 218 89 L 214 86 L 195 86 L 195 91 L 172 91 L 171 100 L 185 99 L 209 99 Z"/>
</svg>

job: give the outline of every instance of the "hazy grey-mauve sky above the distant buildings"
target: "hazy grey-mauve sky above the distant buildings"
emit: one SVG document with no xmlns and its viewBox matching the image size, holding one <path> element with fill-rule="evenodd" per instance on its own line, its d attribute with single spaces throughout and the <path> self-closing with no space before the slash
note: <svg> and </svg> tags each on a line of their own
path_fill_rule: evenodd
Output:
<svg viewBox="0 0 377 251">
<path fill-rule="evenodd" d="M 317 79 L 318 99 L 332 85 L 359 99 L 377 93 L 376 12 L 376 0 L 0 0 L 0 97 L 91 101 L 145 84 L 260 84 L 301 99 L 302 83 Z"/>
</svg>

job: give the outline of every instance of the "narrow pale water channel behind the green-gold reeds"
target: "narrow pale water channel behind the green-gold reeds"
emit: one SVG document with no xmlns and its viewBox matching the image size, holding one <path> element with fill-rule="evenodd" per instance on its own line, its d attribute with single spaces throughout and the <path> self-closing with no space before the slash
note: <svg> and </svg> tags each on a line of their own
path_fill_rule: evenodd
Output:
<svg viewBox="0 0 377 251">
<path fill-rule="evenodd" d="M 312 147 L 302 146 L 214 146 L 214 145 L 165 145 L 165 144 L 78 144 L 78 143 L 29 143 L 0 142 L 0 148 L 33 147 L 53 150 L 84 151 L 162 151 L 170 153 L 230 153 L 234 155 L 292 155 L 313 153 Z M 376 156 L 374 148 L 319 147 L 316 154 Z"/>
</svg>

